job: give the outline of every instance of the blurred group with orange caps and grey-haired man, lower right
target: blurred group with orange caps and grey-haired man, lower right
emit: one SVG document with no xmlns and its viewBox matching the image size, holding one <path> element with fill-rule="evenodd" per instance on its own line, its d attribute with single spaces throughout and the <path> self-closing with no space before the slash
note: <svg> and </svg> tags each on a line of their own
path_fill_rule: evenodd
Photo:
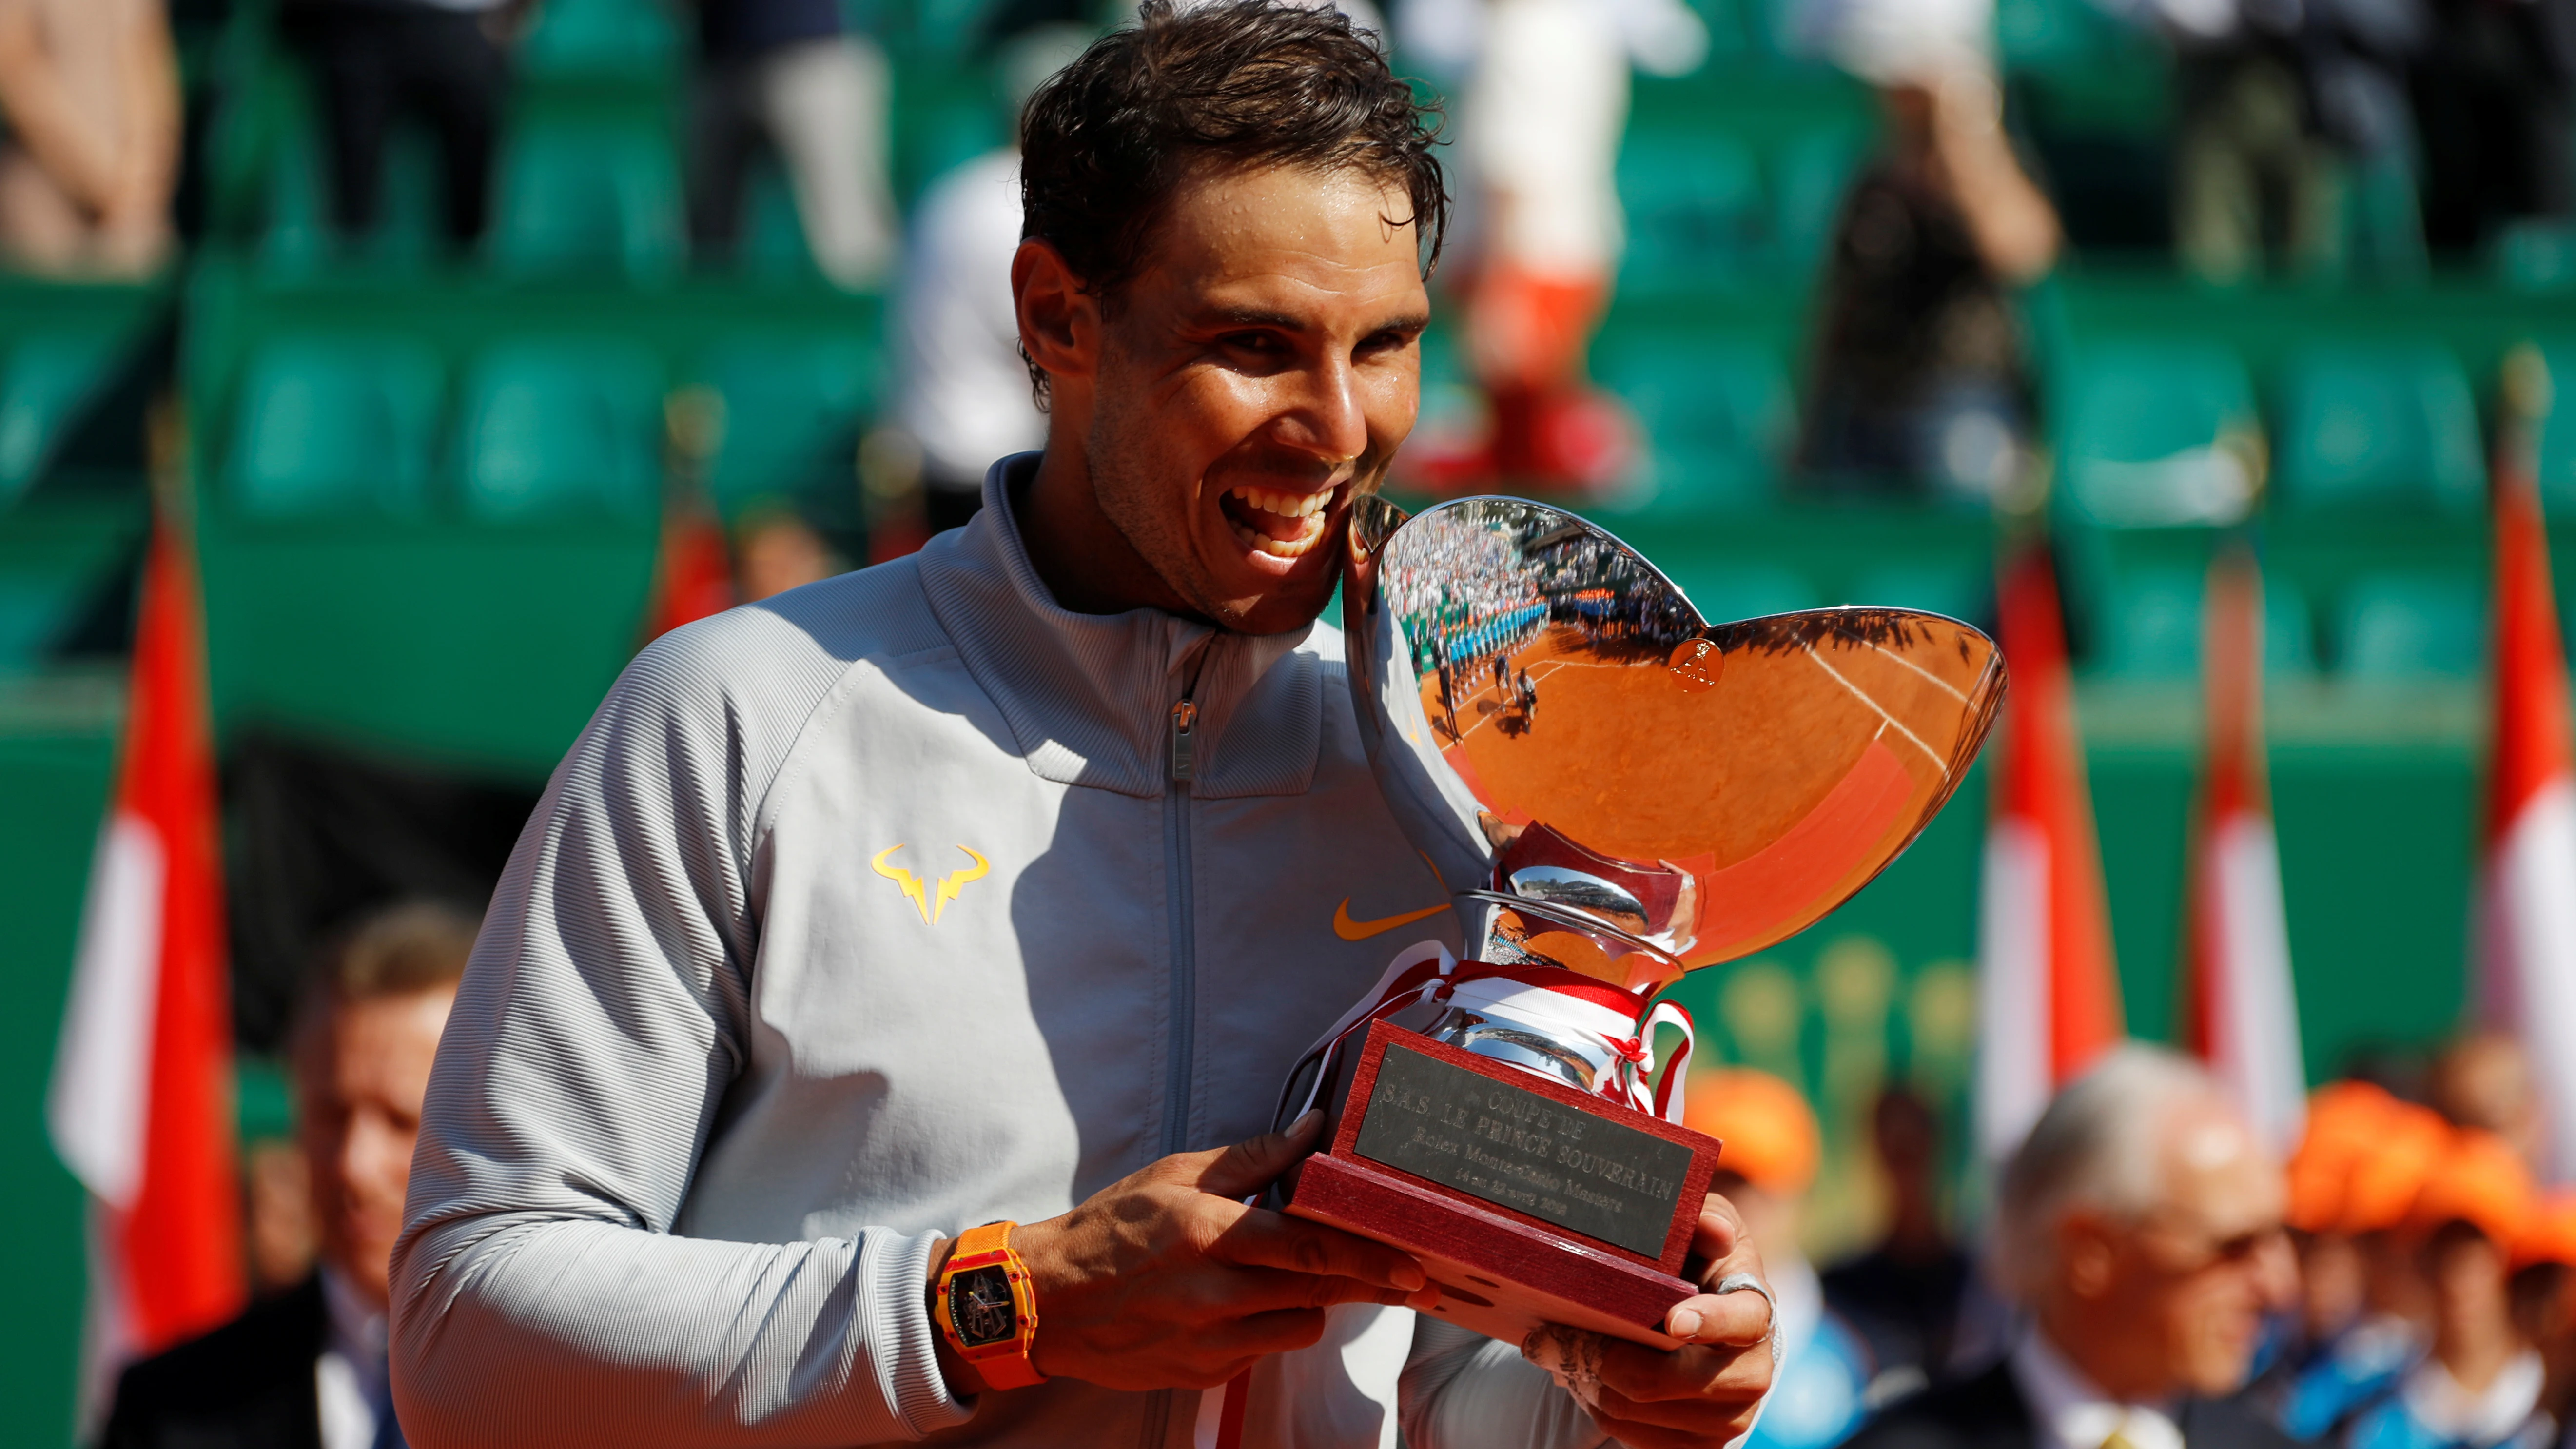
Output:
<svg viewBox="0 0 2576 1449">
<path fill-rule="evenodd" d="M 2553 1449 L 2576 1413 L 2576 1194 L 2543 1189 L 2522 1049 L 2476 1034 L 2308 1101 L 2282 1155 L 2195 1062 L 2120 1047 L 1991 1165 L 1973 1253 L 1940 1134 L 1880 1098 L 1888 1232 L 1814 1271 L 1816 1124 L 1783 1080 L 1703 1073 L 1723 1191 L 1780 1289 L 1757 1439 L 1824 1449 Z M 1731 1176 L 1728 1176 L 1731 1173 Z"/>
</svg>

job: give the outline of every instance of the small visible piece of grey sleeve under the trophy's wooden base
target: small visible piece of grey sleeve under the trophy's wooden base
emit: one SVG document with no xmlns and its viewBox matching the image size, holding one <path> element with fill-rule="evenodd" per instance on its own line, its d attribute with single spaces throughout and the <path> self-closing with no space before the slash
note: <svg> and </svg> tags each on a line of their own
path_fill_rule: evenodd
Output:
<svg viewBox="0 0 2576 1449">
<path fill-rule="evenodd" d="M 1396 1385 L 1412 1449 L 1602 1449 L 1610 1436 L 1520 1348 L 1419 1315 Z"/>
</svg>

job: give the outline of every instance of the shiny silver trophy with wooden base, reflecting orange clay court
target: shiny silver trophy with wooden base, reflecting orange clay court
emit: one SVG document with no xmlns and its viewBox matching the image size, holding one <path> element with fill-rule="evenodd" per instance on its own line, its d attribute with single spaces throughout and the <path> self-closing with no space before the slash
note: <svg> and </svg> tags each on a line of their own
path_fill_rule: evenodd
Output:
<svg viewBox="0 0 2576 1449">
<path fill-rule="evenodd" d="M 1342 583 L 1368 755 L 1471 959 L 1399 957 L 1306 1055 L 1285 1212 L 1414 1253 L 1432 1310 L 1672 1346 L 1721 1145 L 1680 1124 L 1656 993 L 1865 887 L 1958 789 L 2004 691 L 1937 614 L 1708 624 L 1600 529 L 1512 498 L 1363 498 Z M 1662 1060 L 1659 1060 L 1662 1057 Z"/>
</svg>

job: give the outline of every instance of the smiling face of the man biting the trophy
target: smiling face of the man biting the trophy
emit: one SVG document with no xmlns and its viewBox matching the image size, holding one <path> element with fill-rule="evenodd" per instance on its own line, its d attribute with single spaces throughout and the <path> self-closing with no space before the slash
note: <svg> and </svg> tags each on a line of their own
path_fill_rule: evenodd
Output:
<svg viewBox="0 0 2576 1449">
<path fill-rule="evenodd" d="M 1422 402 L 1430 297 L 1404 191 L 1303 165 L 1185 180 L 1105 309 L 1100 511 L 1198 614 L 1296 629 L 1340 580 L 1350 500 Z"/>
</svg>

